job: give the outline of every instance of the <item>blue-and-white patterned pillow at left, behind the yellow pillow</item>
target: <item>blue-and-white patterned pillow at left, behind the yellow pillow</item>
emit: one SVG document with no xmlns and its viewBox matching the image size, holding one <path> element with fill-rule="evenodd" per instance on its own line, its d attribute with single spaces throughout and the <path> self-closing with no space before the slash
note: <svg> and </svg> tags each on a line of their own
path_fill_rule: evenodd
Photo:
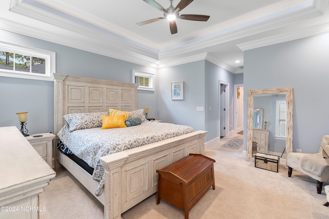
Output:
<svg viewBox="0 0 329 219">
<path fill-rule="evenodd" d="M 79 129 L 91 129 L 102 126 L 102 115 L 108 115 L 108 112 L 88 112 L 88 113 L 70 113 L 63 116 L 68 131 Z"/>
</svg>

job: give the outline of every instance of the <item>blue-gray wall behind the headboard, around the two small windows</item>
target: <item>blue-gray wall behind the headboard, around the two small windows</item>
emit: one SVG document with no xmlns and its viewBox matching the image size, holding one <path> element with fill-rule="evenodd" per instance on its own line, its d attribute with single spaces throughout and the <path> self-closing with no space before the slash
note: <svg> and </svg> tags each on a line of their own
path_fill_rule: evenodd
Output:
<svg viewBox="0 0 329 219">
<path fill-rule="evenodd" d="M 115 58 L 4 30 L 0 30 L 0 36 L 2 42 L 56 52 L 56 73 L 132 83 L 132 70 L 136 69 L 155 73 L 157 77 L 157 69 Z M 19 117 L 15 113 L 28 111 L 29 133 L 53 132 L 53 82 L 0 77 L 0 103 L 1 127 L 16 126 L 20 129 Z M 150 108 L 150 117 L 157 117 L 156 92 L 138 90 L 138 108 L 146 107 Z"/>
</svg>

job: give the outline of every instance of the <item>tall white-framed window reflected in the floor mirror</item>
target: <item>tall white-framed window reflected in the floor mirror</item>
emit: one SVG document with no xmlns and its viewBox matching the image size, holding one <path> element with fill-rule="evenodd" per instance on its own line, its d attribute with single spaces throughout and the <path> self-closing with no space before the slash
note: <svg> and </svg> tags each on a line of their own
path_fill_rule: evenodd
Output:
<svg viewBox="0 0 329 219">
<path fill-rule="evenodd" d="M 285 139 L 287 133 L 286 123 L 286 101 L 277 101 L 277 120 L 276 120 L 276 138 Z"/>
</svg>

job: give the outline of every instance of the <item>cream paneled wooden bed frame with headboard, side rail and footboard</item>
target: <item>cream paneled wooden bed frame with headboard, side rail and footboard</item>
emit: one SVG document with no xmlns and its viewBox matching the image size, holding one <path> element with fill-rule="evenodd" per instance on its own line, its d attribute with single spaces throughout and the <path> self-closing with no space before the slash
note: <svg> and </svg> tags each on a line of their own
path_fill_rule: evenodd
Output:
<svg viewBox="0 0 329 219">
<path fill-rule="evenodd" d="M 65 125 L 63 115 L 68 113 L 104 112 L 109 108 L 123 111 L 137 109 L 138 84 L 57 73 L 52 76 L 56 134 Z M 53 154 L 104 205 L 104 218 L 121 218 L 121 213 L 157 191 L 157 169 L 166 167 L 189 153 L 203 154 L 206 133 L 195 131 L 101 157 L 105 169 L 105 186 L 101 196 L 95 195 L 98 182 L 90 174 L 55 150 L 56 147 Z M 56 136 L 55 145 L 57 141 Z"/>
</svg>

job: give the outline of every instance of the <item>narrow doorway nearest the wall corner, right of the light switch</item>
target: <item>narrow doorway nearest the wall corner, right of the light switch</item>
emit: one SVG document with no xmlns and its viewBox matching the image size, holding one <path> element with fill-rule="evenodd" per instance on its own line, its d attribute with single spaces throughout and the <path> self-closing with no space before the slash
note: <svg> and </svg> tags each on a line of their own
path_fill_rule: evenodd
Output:
<svg viewBox="0 0 329 219">
<path fill-rule="evenodd" d="M 228 123 L 229 123 L 229 109 L 228 109 L 228 94 L 229 84 L 220 81 L 220 106 L 219 106 L 219 118 L 220 118 L 220 137 L 229 136 Z"/>
</svg>

